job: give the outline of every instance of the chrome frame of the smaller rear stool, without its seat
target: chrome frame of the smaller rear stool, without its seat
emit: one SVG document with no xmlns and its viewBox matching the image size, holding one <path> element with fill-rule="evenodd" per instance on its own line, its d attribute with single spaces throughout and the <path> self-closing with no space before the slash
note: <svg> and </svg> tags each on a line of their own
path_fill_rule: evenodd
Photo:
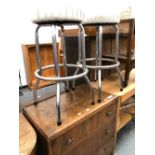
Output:
<svg viewBox="0 0 155 155">
<path fill-rule="evenodd" d="M 107 23 L 107 24 L 83 24 L 84 26 L 95 26 L 96 27 L 96 57 L 95 58 L 86 58 L 86 62 L 96 61 L 96 65 L 87 65 L 88 69 L 95 69 L 97 70 L 98 74 L 98 102 L 102 100 L 102 80 L 101 80 L 101 70 L 103 69 L 112 69 L 116 68 L 119 79 L 120 79 L 120 91 L 123 91 L 123 78 L 121 76 L 121 72 L 119 70 L 120 62 L 118 61 L 118 54 L 119 54 L 119 27 L 117 23 Z M 116 30 L 115 35 L 115 59 L 108 59 L 102 58 L 102 38 L 103 38 L 103 27 L 104 26 L 113 26 Z M 79 59 L 79 62 L 81 60 Z M 112 62 L 114 64 L 111 65 L 102 65 L 102 61 Z M 78 73 L 79 69 L 77 68 L 76 73 Z M 97 75 L 95 74 L 95 75 Z M 95 77 L 96 78 L 96 77 Z M 73 81 L 73 87 L 75 87 L 75 81 Z"/>
</svg>

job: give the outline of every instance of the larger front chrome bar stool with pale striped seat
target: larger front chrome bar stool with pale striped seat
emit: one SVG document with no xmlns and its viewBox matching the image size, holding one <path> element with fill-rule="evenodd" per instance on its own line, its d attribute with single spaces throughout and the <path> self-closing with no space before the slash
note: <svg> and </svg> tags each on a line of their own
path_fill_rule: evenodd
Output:
<svg viewBox="0 0 155 155">
<path fill-rule="evenodd" d="M 34 16 L 32 22 L 37 24 L 37 28 L 35 31 L 35 43 L 36 43 L 36 54 L 37 54 L 37 66 L 38 69 L 35 71 L 35 76 L 37 81 L 34 86 L 34 103 L 37 104 L 37 87 L 40 80 L 54 80 L 56 81 L 56 110 L 57 110 L 57 125 L 62 124 L 61 120 L 61 108 L 60 108 L 60 83 L 66 83 L 66 89 L 69 90 L 69 80 L 75 80 L 77 78 L 85 78 L 89 88 L 90 88 L 90 97 L 91 104 L 94 104 L 94 92 L 91 87 L 90 81 L 87 77 L 88 69 L 86 68 L 85 62 L 85 38 L 84 38 L 84 28 L 81 24 L 83 13 L 80 8 L 76 8 L 73 6 L 60 6 L 57 7 L 54 5 L 51 8 L 50 5 L 46 5 L 44 9 L 39 8 L 36 12 L 36 16 Z M 82 63 L 68 64 L 67 63 L 67 53 L 65 49 L 65 36 L 64 36 L 64 26 L 68 25 L 77 25 L 80 33 L 79 33 L 79 55 L 81 56 Z M 40 49 L 39 49 L 39 29 L 41 27 L 51 27 L 52 28 L 52 43 L 53 43 L 53 54 L 54 54 L 54 64 L 41 67 L 41 58 L 40 58 Z M 56 46 L 56 33 L 57 28 L 60 28 L 61 38 L 62 38 L 62 51 L 64 55 L 64 63 L 60 64 L 58 61 L 58 51 Z M 64 67 L 65 75 L 60 75 L 60 67 Z M 67 68 L 73 67 L 82 70 L 79 74 L 67 76 Z M 42 75 L 42 71 L 45 69 L 55 68 L 55 77 L 45 77 Z"/>
</svg>

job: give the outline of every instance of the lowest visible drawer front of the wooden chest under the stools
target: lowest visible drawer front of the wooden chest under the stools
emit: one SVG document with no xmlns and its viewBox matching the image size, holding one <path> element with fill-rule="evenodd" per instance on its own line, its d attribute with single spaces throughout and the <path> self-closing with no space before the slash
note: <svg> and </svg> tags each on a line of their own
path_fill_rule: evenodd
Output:
<svg viewBox="0 0 155 155">
<path fill-rule="evenodd" d="M 114 143 L 115 139 L 113 137 L 108 140 L 105 145 L 100 147 L 93 155 L 112 155 L 114 152 Z"/>
</svg>

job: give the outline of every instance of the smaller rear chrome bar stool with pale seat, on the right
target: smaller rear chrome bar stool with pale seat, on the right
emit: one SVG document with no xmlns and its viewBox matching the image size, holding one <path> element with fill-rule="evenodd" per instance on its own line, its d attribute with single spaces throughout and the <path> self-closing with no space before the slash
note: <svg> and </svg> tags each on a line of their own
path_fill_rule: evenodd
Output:
<svg viewBox="0 0 155 155">
<path fill-rule="evenodd" d="M 119 79 L 120 79 L 120 91 L 123 91 L 123 78 L 121 76 L 119 65 L 120 62 L 118 61 L 118 50 L 119 50 L 119 27 L 118 23 L 120 22 L 119 15 L 116 14 L 114 16 L 110 16 L 108 14 L 104 14 L 104 9 L 102 9 L 101 14 L 95 16 L 94 15 L 90 18 L 87 18 L 83 21 L 83 26 L 94 26 L 96 27 L 96 57 L 95 58 L 86 58 L 86 62 L 95 61 L 95 65 L 88 65 L 86 64 L 88 69 L 95 69 L 97 70 L 98 74 L 98 102 L 102 100 L 102 93 L 101 93 L 101 70 L 104 69 L 112 69 L 116 68 Z M 115 36 L 115 59 L 106 59 L 102 58 L 102 37 L 103 37 L 103 30 L 104 26 L 113 26 L 116 30 Z M 110 62 L 110 65 L 102 65 L 102 62 Z"/>
</svg>

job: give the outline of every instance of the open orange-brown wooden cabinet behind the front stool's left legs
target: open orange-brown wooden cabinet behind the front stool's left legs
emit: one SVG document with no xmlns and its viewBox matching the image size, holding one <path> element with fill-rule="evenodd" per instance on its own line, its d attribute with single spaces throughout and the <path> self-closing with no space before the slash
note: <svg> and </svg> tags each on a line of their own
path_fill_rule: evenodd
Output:
<svg viewBox="0 0 155 155">
<path fill-rule="evenodd" d="M 59 62 L 61 61 L 59 44 L 57 44 Z M 28 87 L 33 89 L 36 82 L 36 77 L 34 75 L 35 70 L 37 69 L 36 63 L 36 49 L 35 44 L 22 45 L 26 77 L 28 82 Z M 51 43 L 40 44 L 40 57 L 41 57 L 41 66 L 46 66 L 54 64 L 53 58 L 53 47 Z M 43 71 L 43 76 L 53 77 L 55 76 L 54 69 L 46 69 Z M 55 81 L 40 81 L 39 88 L 44 87 L 50 84 L 54 84 Z"/>
</svg>

